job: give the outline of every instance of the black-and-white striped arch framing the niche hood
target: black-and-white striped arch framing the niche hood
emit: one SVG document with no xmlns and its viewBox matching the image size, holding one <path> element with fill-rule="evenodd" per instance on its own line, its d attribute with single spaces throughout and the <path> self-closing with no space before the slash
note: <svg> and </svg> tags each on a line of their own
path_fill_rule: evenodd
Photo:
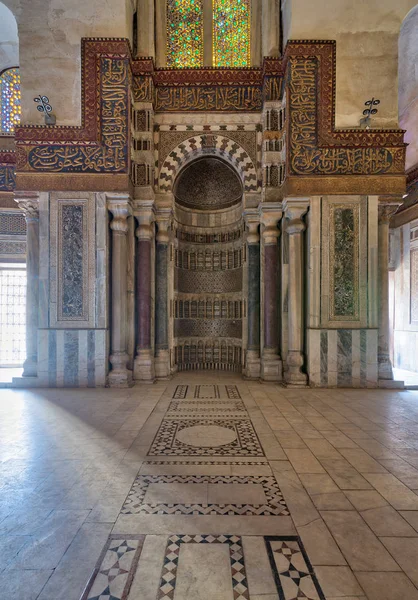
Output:
<svg viewBox="0 0 418 600">
<path fill-rule="evenodd" d="M 257 192 L 257 171 L 251 158 L 242 146 L 225 135 L 196 135 L 179 144 L 165 159 L 158 178 L 162 192 L 172 192 L 180 169 L 200 156 L 219 156 L 232 164 L 238 171 L 244 192 Z"/>
</svg>

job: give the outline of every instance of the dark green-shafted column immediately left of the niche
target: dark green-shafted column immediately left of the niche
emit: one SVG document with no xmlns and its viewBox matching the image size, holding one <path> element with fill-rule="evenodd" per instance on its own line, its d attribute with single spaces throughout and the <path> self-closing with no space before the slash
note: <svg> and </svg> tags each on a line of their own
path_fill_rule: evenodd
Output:
<svg viewBox="0 0 418 600">
<path fill-rule="evenodd" d="M 155 256 L 155 375 L 158 379 L 170 376 L 168 348 L 168 250 L 171 209 L 156 215 Z"/>
</svg>

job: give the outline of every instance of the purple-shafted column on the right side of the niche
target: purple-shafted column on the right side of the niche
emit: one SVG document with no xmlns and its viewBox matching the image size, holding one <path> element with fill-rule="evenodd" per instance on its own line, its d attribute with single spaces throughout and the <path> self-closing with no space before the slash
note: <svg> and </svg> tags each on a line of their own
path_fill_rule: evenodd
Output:
<svg viewBox="0 0 418 600">
<path fill-rule="evenodd" d="M 278 334 L 278 228 L 281 210 L 264 210 L 262 207 L 263 239 L 263 334 L 261 378 L 265 381 L 281 381 L 282 361 L 279 355 Z"/>
</svg>

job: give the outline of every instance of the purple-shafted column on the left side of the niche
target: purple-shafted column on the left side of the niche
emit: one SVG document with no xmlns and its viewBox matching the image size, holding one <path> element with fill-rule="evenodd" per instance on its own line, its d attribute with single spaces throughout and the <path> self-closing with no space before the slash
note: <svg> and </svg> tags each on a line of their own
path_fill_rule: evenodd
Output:
<svg viewBox="0 0 418 600">
<path fill-rule="evenodd" d="M 155 380 L 154 350 L 152 344 L 152 244 L 154 240 L 154 213 L 145 209 L 135 215 L 138 220 L 136 237 L 136 299 L 137 347 L 134 378 L 152 383 Z"/>
</svg>

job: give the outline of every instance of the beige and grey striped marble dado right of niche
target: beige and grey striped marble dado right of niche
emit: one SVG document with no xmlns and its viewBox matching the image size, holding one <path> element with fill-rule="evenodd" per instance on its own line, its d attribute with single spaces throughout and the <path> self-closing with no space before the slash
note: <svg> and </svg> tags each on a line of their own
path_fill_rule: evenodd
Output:
<svg viewBox="0 0 418 600">
<path fill-rule="evenodd" d="M 308 329 L 312 387 L 377 387 L 377 329 Z"/>
</svg>

